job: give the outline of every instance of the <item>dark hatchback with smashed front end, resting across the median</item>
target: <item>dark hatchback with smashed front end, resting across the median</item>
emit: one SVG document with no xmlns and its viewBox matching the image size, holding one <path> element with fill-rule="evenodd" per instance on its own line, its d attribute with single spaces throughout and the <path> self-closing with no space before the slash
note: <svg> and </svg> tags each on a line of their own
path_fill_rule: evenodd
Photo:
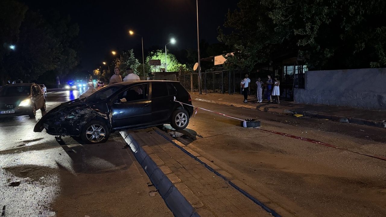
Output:
<svg viewBox="0 0 386 217">
<path fill-rule="evenodd" d="M 177 81 L 120 82 L 53 108 L 34 132 L 46 129 L 54 136 L 80 136 L 86 143 L 100 143 L 114 131 L 161 124 L 185 129 L 193 113 L 189 105 L 190 94 Z"/>
</svg>

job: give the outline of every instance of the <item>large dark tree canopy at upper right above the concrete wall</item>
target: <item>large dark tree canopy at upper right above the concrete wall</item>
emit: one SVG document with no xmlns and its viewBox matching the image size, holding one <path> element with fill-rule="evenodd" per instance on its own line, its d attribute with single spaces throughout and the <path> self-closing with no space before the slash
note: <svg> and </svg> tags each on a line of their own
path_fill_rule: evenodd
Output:
<svg viewBox="0 0 386 217">
<path fill-rule="evenodd" d="M 309 57 L 312 69 L 386 66 L 383 0 L 240 0 L 220 42 L 232 47 L 229 66 L 251 69 L 279 54 Z"/>
</svg>

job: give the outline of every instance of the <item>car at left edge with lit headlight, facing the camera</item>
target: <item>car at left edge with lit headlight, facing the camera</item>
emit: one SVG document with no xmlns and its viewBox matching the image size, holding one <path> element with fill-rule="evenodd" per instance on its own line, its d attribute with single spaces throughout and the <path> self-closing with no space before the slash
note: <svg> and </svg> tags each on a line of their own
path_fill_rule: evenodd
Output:
<svg viewBox="0 0 386 217">
<path fill-rule="evenodd" d="M 29 115 L 46 110 L 46 97 L 36 83 L 5 85 L 0 89 L 0 117 Z"/>
</svg>

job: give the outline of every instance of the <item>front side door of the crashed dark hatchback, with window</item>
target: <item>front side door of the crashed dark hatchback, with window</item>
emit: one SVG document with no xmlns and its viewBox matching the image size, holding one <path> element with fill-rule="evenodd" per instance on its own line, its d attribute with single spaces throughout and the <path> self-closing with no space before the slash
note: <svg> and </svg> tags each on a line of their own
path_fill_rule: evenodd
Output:
<svg viewBox="0 0 386 217">
<path fill-rule="evenodd" d="M 112 128 L 133 128 L 151 122 L 149 83 L 130 86 L 112 98 Z"/>
</svg>

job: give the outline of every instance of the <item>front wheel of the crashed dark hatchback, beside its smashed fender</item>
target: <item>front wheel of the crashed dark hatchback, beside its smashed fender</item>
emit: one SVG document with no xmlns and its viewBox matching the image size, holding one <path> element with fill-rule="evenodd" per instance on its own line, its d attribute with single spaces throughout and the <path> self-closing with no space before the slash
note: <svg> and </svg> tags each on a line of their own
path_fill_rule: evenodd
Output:
<svg viewBox="0 0 386 217">
<path fill-rule="evenodd" d="M 110 130 L 105 122 L 100 120 L 93 120 L 85 124 L 81 132 L 81 139 L 88 143 L 103 143 L 106 142 L 110 136 Z"/>
</svg>

